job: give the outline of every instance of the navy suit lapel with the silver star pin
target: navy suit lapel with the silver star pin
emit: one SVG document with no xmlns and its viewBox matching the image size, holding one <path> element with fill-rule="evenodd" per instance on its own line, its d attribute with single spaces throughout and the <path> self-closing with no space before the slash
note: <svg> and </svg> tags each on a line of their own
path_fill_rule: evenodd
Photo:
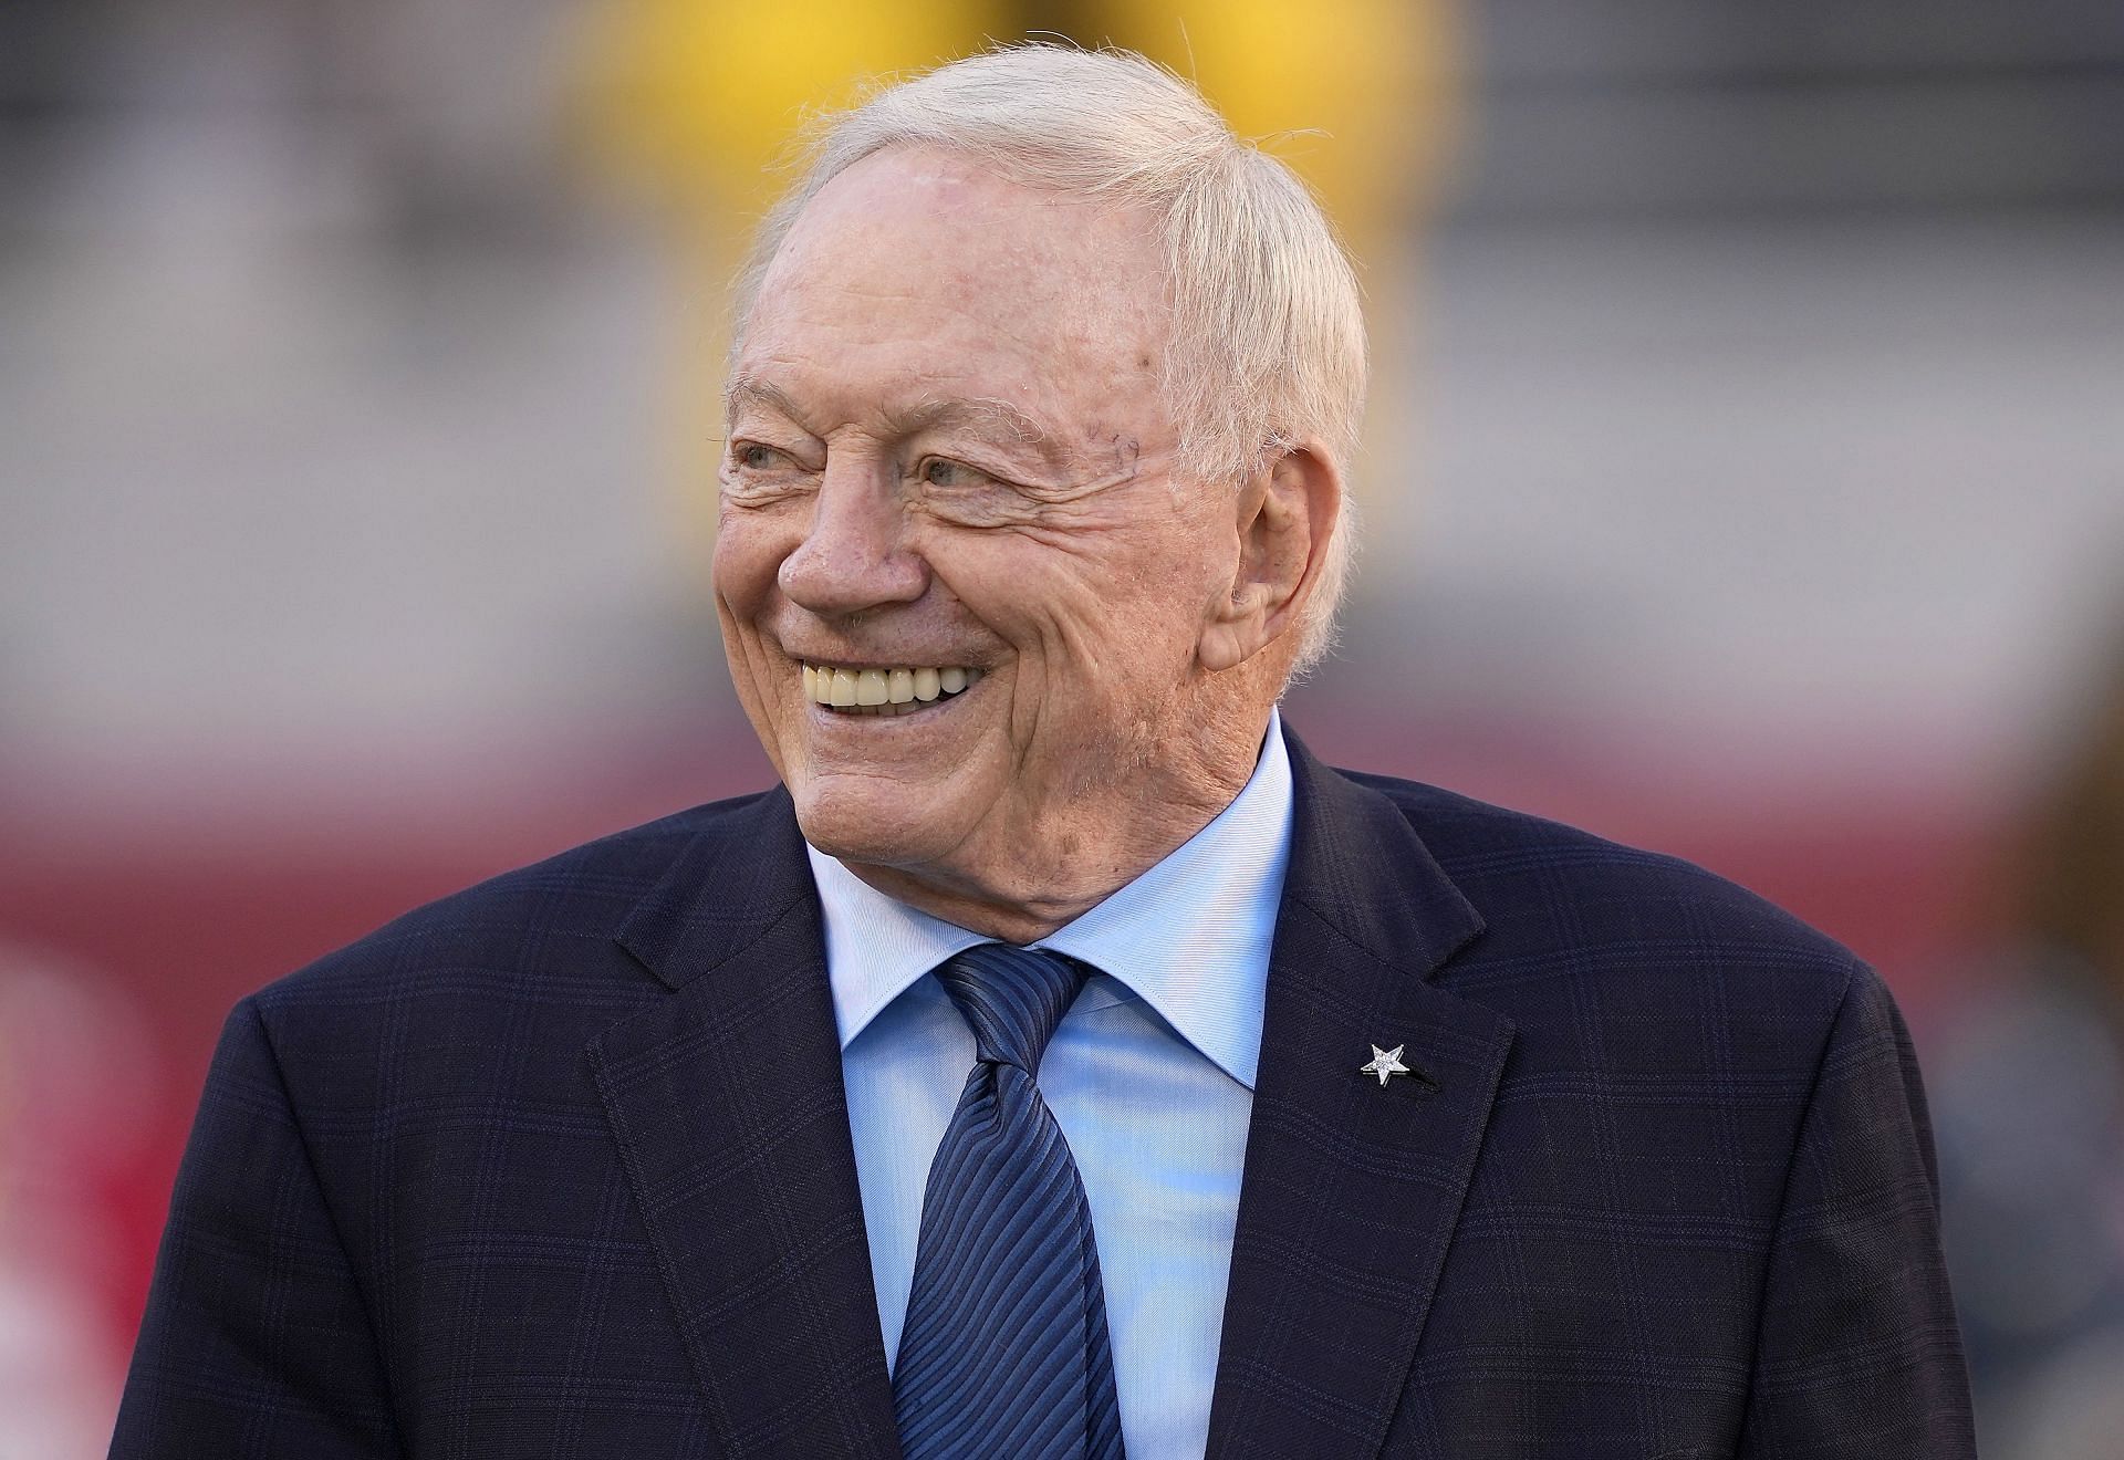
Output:
<svg viewBox="0 0 2124 1460">
<path fill-rule="evenodd" d="M 1357 1460 L 1408 1379 L 1512 1025 L 1429 983 L 1483 921 L 1400 809 L 1289 749 L 1209 1454 Z M 1429 1082 L 1359 1074 L 1374 1044 Z"/>
</svg>

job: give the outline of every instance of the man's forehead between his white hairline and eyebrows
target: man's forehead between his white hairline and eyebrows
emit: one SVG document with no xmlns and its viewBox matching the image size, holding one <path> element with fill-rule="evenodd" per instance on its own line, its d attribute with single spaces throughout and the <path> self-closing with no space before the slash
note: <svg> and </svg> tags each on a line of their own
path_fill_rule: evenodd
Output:
<svg viewBox="0 0 2124 1460">
<path fill-rule="evenodd" d="M 1047 371 L 1162 367 L 1166 270 L 1136 206 L 1011 183 L 930 149 L 888 149 L 803 208 L 760 280 L 746 348 L 809 327 Z"/>
</svg>

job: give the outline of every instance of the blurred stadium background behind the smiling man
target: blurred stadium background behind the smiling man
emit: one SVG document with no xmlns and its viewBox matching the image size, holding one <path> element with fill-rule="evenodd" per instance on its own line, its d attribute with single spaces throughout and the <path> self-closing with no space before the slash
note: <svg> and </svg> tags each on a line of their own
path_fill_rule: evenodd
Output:
<svg viewBox="0 0 2124 1460">
<path fill-rule="evenodd" d="M 0 2 L 0 1452 L 102 1454 L 238 995 L 767 783 L 705 592 L 763 166 L 1028 32 L 1194 74 L 1361 257 L 1291 722 L 1873 959 L 1986 1454 L 2113 1460 L 2113 0 Z"/>
</svg>

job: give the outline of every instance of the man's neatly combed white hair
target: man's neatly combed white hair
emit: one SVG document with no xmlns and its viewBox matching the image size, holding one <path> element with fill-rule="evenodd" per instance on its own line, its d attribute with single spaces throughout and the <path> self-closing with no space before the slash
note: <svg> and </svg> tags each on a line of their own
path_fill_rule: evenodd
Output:
<svg viewBox="0 0 2124 1460">
<path fill-rule="evenodd" d="M 1364 314 L 1334 227 L 1289 168 L 1232 136 L 1192 85 L 1130 51 L 1005 47 L 824 117 L 739 276 L 739 346 L 796 214 L 835 176 L 892 146 L 958 153 L 1011 183 L 1115 199 L 1153 219 L 1170 306 L 1162 393 L 1183 469 L 1243 480 L 1300 444 L 1347 467 L 1364 414 Z M 1334 641 L 1353 528 L 1344 497 L 1294 673 Z"/>
</svg>

